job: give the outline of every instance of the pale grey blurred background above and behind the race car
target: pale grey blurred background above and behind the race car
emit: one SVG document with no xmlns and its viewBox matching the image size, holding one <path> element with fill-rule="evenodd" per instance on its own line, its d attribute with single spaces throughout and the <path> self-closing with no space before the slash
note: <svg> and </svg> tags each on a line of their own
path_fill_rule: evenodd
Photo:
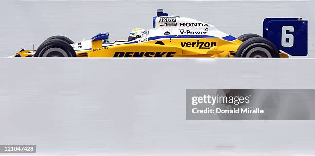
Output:
<svg viewBox="0 0 315 156">
<path fill-rule="evenodd" d="M 74 42 L 109 32 L 110 40 L 126 39 L 134 28 L 152 29 L 156 9 L 198 19 L 238 37 L 263 34 L 266 17 L 308 19 L 309 57 L 315 57 L 314 1 L 34 1 L 0 2 L 0 57 L 32 49 L 46 38 L 64 35 Z"/>
</svg>

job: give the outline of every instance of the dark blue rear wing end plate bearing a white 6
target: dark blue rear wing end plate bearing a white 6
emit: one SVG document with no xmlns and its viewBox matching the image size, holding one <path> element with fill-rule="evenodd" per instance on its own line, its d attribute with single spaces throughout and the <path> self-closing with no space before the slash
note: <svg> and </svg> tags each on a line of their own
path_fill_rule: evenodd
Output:
<svg viewBox="0 0 315 156">
<path fill-rule="evenodd" d="M 263 36 L 278 50 L 291 56 L 307 55 L 307 20 L 302 18 L 266 18 Z"/>
</svg>

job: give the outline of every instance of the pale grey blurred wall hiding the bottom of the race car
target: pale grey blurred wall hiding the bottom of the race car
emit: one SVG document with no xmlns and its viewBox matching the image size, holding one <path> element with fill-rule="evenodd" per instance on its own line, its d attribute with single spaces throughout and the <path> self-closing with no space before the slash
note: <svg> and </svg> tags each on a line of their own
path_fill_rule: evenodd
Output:
<svg viewBox="0 0 315 156">
<path fill-rule="evenodd" d="M 314 59 L 209 60 L 0 59 L 0 144 L 37 155 L 315 153 L 313 120 L 185 120 L 186 88 L 315 88 Z"/>
</svg>

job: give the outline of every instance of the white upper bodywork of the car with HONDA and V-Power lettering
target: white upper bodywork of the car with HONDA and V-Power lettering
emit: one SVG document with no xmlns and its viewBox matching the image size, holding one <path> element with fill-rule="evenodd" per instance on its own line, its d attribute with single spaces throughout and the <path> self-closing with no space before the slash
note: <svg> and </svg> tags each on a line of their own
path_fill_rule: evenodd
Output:
<svg viewBox="0 0 315 156">
<path fill-rule="evenodd" d="M 133 41 L 104 41 L 104 46 L 147 42 L 152 40 L 159 40 L 159 37 L 177 37 L 186 36 L 189 38 L 191 35 L 205 35 L 213 36 L 216 38 L 223 38 L 229 36 L 228 34 L 218 30 L 213 25 L 197 21 L 195 19 L 178 17 L 178 16 L 161 16 L 155 19 L 155 29 L 150 29 L 143 34 L 141 38 L 137 38 Z M 126 34 L 126 37 L 128 35 Z M 156 38 L 158 37 L 158 38 Z M 85 40 L 71 44 L 75 51 L 90 50 L 92 47 L 91 40 Z"/>
</svg>

